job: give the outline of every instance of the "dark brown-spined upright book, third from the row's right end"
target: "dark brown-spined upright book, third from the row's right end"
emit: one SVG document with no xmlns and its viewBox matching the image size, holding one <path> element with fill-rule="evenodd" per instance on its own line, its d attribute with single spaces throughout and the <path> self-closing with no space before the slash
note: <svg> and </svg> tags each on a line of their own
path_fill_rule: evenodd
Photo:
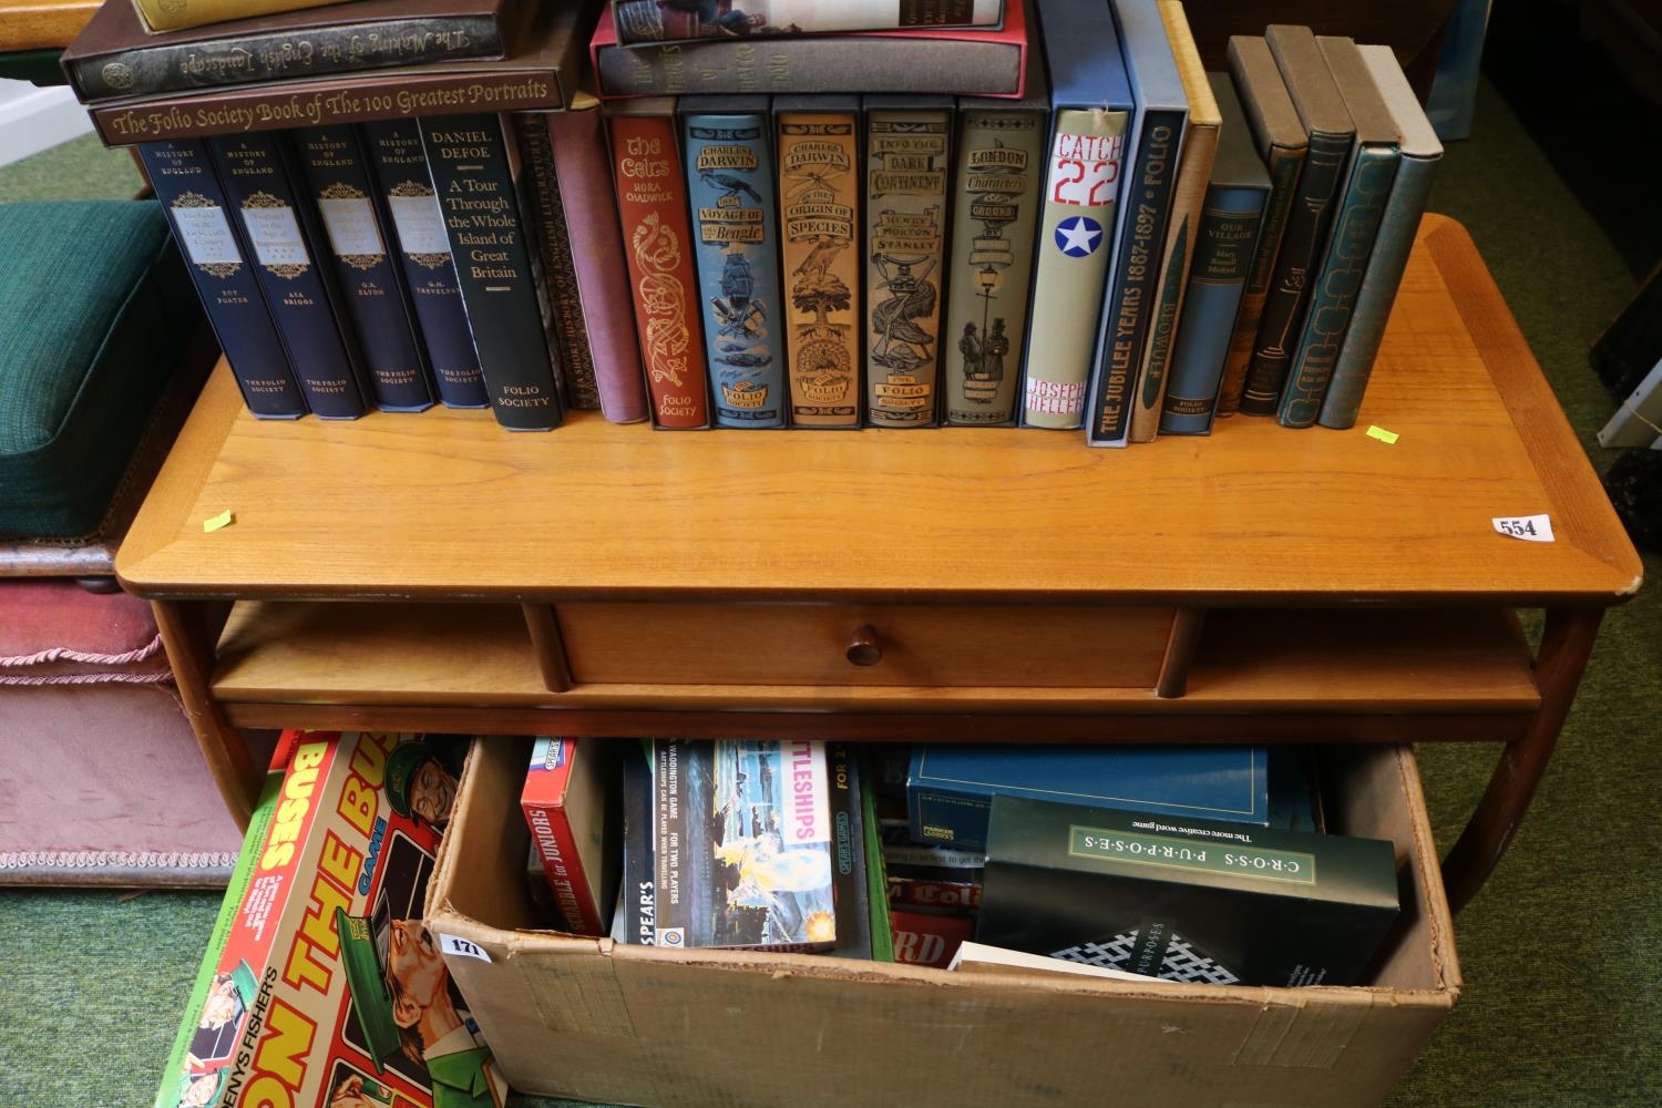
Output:
<svg viewBox="0 0 1662 1108">
<path fill-rule="evenodd" d="M 1286 372 L 1303 336 L 1310 286 L 1321 266 L 1321 252 L 1328 244 L 1335 208 L 1356 146 L 1356 126 L 1310 28 L 1273 23 L 1265 28 L 1265 42 L 1298 111 L 1310 153 L 1298 174 L 1298 191 L 1281 233 L 1281 252 L 1275 261 L 1275 276 L 1270 279 L 1246 369 L 1240 405 L 1246 415 L 1275 415 L 1280 407 Z"/>
</svg>

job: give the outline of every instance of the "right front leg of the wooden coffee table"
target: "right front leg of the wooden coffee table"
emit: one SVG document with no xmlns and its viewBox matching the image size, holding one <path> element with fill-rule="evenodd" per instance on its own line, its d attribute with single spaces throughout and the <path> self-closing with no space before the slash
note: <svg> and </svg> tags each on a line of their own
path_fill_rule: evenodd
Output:
<svg viewBox="0 0 1662 1108">
<path fill-rule="evenodd" d="M 1506 846 L 1522 822 L 1529 801 L 1541 784 L 1559 731 L 1576 699 L 1576 689 L 1592 655 L 1592 643 L 1604 620 L 1602 608 L 1549 608 L 1541 650 L 1536 655 L 1536 684 L 1541 708 L 1529 731 L 1501 751 L 1501 762 L 1489 787 L 1471 814 L 1459 842 L 1443 859 L 1443 887 L 1449 909 L 1459 912 L 1483 887 Z"/>
</svg>

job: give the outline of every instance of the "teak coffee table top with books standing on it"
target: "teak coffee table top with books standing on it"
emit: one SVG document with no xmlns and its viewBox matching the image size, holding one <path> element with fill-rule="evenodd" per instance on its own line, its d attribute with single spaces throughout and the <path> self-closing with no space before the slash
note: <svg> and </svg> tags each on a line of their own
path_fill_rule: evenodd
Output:
<svg viewBox="0 0 1662 1108">
<path fill-rule="evenodd" d="M 1378 425 L 1394 445 L 1368 434 Z M 229 510 L 234 522 L 204 532 Z M 1556 542 L 1497 517 L 1551 517 Z M 221 365 L 123 543 L 145 596 L 1607 606 L 1642 566 L 1466 231 L 1428 216 L 1358 425 L 1097 450 L 1014 429 L 256 420 Z"/>
</svg>

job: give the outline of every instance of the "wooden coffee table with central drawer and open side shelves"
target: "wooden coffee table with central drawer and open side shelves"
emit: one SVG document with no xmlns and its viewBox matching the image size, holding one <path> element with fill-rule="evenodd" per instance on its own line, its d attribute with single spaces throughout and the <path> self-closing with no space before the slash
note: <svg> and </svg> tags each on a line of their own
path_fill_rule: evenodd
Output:
<svg viewBox="0 0 1662 1108">
<path fill-rule="evenodd" d="M 1494 525 L 1534 515 L 1554 542 Z M 1642 568 L 1469 236 L 1428 216 L 1353 430 L 261 422 L 221 367 L 116 571 L 241 819 L 239 728 L 1497 741 L 1459 905 Z"/>
</svg>

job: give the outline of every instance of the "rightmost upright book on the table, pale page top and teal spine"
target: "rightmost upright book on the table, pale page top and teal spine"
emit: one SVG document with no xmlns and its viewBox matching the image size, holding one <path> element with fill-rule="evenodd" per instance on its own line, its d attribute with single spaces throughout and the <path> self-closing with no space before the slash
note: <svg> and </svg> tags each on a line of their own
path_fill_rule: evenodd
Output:
<svg viewBox="0 0 1662 1108">
<path fill-rule="evenodd" d="M 1396 289 L 1403 282 L 1403 269 L 1408 267 L 1408 254 L 1419 229 L 1419 216 L 1426 211 L 1426 199 L 1431 196 L 1431 184 L 1443 161 L 1443 143 L 1424 108 L 1419 106 L 1419 96 L 1403 75 L 1403 66 L 1396 63 L 1396 55 L 1389 47 L 1360 47 L 1360 50 L 1396 123 L 1401 159 L 1391 196 L 1384 201 L 1384 214 L 1379 218 L 1379 233 L 1373 254 L 1368 256 L 1361 291 L 1356 292 L 1350 331 L 1345 332 L 1340 360 L 1321 399 L 1320 422 L 1323 427 L 1336 429 L 1356 424 L 1356 412 L 1368 390 L 1368 375 L 1373 372 L 1373 359 L 1379 352 L 1379 339 L 1384 337 L 1384 324 L 1391 317 Z"/>
</svg>

